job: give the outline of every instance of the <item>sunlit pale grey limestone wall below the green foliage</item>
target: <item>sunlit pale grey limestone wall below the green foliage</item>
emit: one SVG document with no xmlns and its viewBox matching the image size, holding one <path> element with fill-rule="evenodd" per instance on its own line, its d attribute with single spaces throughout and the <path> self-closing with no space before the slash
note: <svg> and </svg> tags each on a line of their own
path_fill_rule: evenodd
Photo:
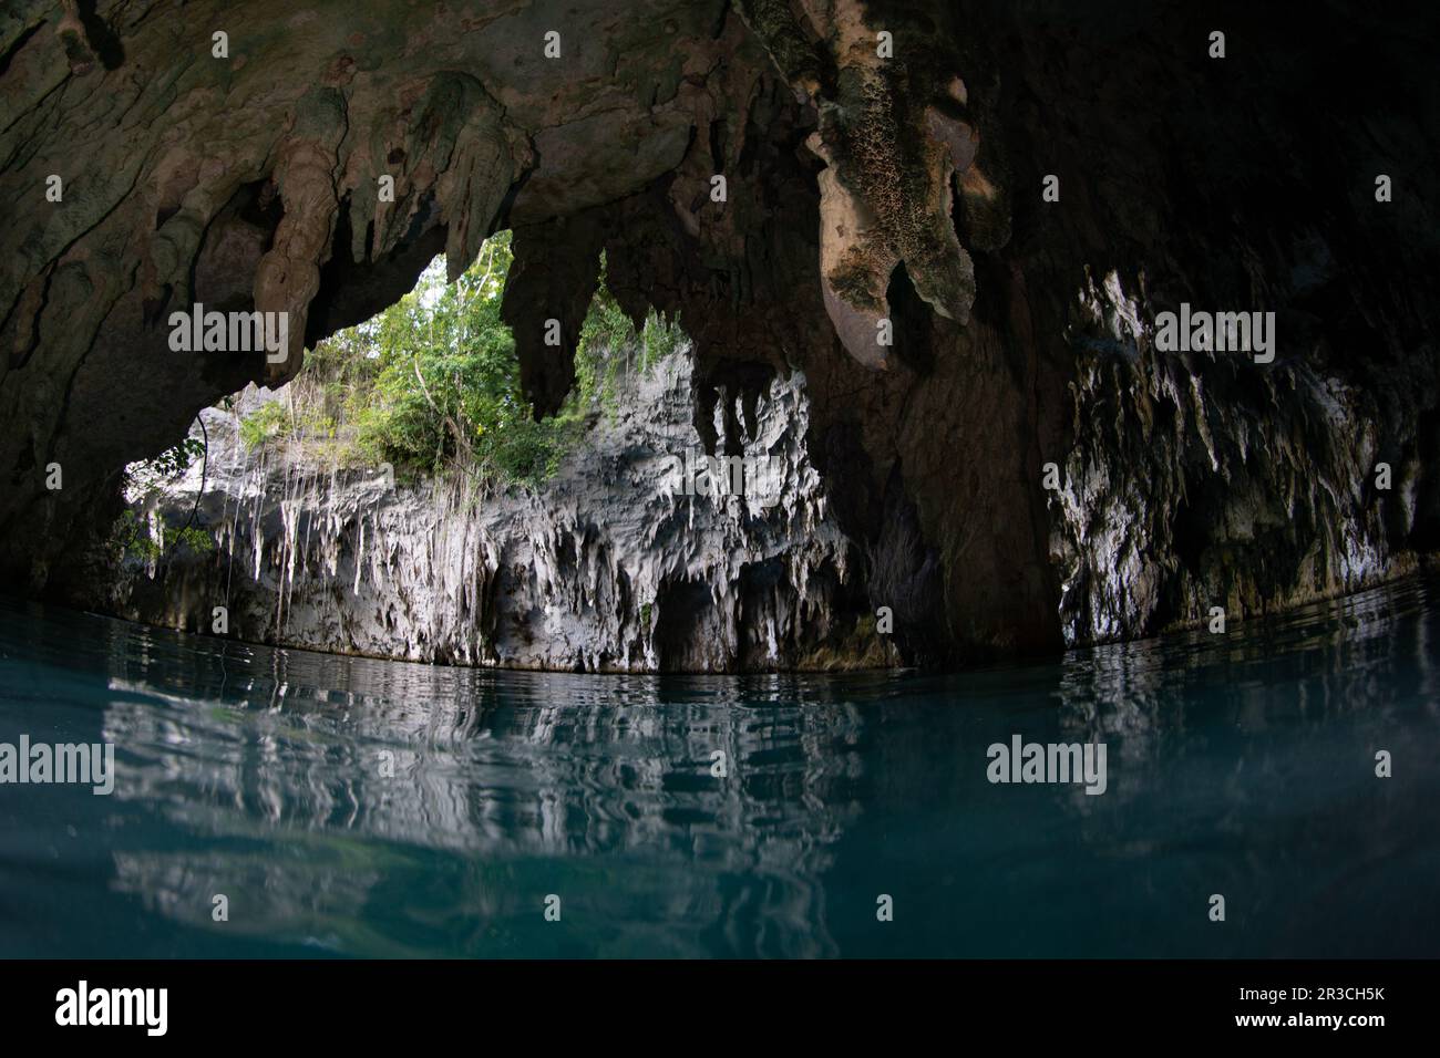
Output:
<svg viewBox="0 0 1440 1058">
<path fill-rule="evenodd" d="M 196 510 L 217 550 L 180 546 L 118 567 L 101 556 L 96 576 L 114 573 L 85 602 L 204 633 L 225 606 L 226 635 L 240 639 L 459 665 L 896 664 L 858 609 L 857 550 L 827 515 L 805 452 L 804 379 L 775 380 L 742 412 L 734 440 L 749 464 L 698 495 L 684 494 L 670 462 L 704 456 L 690 386 L 688 348 L 629 376 L 613 412 L 539 491 L 465 475 L 395 487 L 383 472 L 284 449 L 251 453 L 235 416 L 207 409 L 209 468 L 197 462 L 140 514 L 179 527 Z M 707 488 L 700 474 L 693 481 Z"/>
</svg>

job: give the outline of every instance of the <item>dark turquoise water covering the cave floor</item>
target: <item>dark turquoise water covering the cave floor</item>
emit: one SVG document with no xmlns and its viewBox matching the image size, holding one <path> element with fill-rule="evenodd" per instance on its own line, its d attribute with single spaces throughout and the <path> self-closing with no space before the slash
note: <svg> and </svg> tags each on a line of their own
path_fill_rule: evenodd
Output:
<svg viewBox="0 0 1440 1058">
<path fill-rule="evenodd" d="M 1437 603 L 950 677 L 613 678 L 0 602 L 0 743 L 112 741 L 118 773 L 0 785 L 0 956 L 1440 956 Z M 992 785 L 1015 734 L 1103 741 L 1106 792 Z"/>
</svg>

